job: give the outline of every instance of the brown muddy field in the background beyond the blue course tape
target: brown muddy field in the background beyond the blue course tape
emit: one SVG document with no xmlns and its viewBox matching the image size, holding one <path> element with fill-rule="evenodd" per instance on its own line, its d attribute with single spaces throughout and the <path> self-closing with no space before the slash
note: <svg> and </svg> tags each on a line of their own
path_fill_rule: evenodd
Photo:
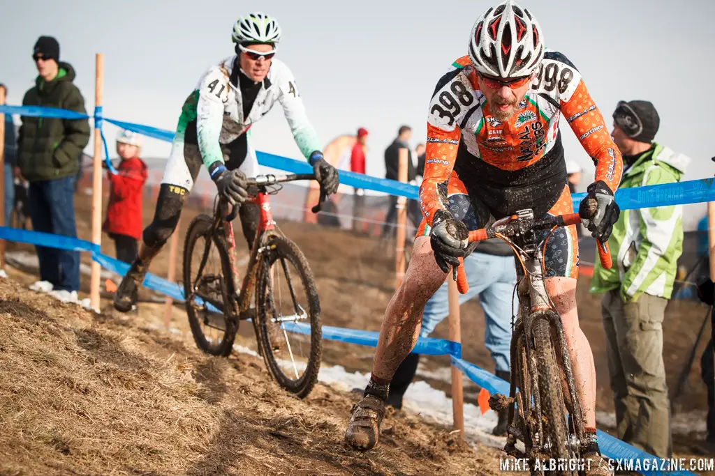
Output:
<svg viewBox="0 0 715 476">
<path fill-rule="evenodd" d="M 148 201 L 145 201 L 144 223 L 149 223 L 153 215 L 153 204 L 147 202 Z M 91 226 L 89 224 L 91 205 L 89 197 L 78 195 L 76 209 L 79 237 L 89 239 L 91 236 Z M 196 210 L 187 209 L 182 216 L 178 232 L 180 238 L 179 260 L 182 253 L 184 231 L 190 219 L 195 216 L 196 213 Z M 395 285 L 394 242 L 357 236 L 350 232 L 305 223 L 280 222 L 280 228 L 287 236 L 295 240 L 310 262 L 322 303 L 322 323 L 324 325 L 336 325 L 347 328 L 379 330 L 385 306 L 388 300 L 390 300 Z M 32 250 L 30 246 L 13 243 L 9 243 L 8 248 Z M 242 245 L 240 245 L 239 250 L 240 253 L 245 253 L 245 249 L 242 248 Z M 114 245 L 106 235 L 102 238 L 102 251 L 108 255 L 114 255 Z M 168 255 L 168 249 L 162 251 L 152 265 L 152 273 L 156 273 L 157 275 L 166 274 Z M 89 255 L 83 253 L 82 261 L 89 263 Z M 177 275 L 180 276 L 180 263 L 178 266 Z M 25 276 L 24 278 L 18 277 L 18 279 L 24 280 L 24 284 L 27 284 L 34 278 Z M 89 290 L 89 277 L 83 276 L 82 279 L 83 291 L 87 292 Z M 588 293 L 588 285 L 589 278 L 582 277 L 579 280 L 578 308 L 581 327 L 591 343 L 596 361 L 598 410 L 612 412 L 613 402 L 611 390 L 608 388 L 608 369 L 606 365 L 603 328 L 601 327 L 601 296 Z M 704 308 L 704 306 L 687 301 L 673 301 L 666 310 L 666 320 L 664 322 L 664 360 L 671 392 L 674 390 L 673 387 L 677 378 L 679 378 L 684 361 L 692 348 L 696 333 L 704 319 L 705 313 L 706 308 Z M 160 320 L 163 315 L 163 307 L 161 305 L 144 305 L 142 315 L 148 315 L 154 320 Z M 492 360 L 483 345 L 483 313 L 478 302 L 473 301 L 463 305 L 461 315 L 464 358 L 486 370 L 493 370 Z M 109 325 L 119 325 L 114 321 L 114 318 L 104 319 Z M 182 312 L 180 305 L 174 307 L 174 311 L 172 312 L 172 325 L 177 328 L 187 328 L 185 314 Z M 125 327 L 128 329 L 127 326 Z M 127 332 L 129 332 L 129 330 L 127 330 Z M 241 333 L 242 338 L 240 338 L 240 343 L 247 347 L 255 348 L 255 340 L 253 340 L 250 326 L 245 325 Z M 709 333 L 709 328 L 706 329 L 706 334 L 707 333 Z M 434 337 L 448 337 L 446 321 L 438 326 L 435 330 Z M 701 342 L 699 345 L 695 363 L 689 374 L 686 390 L 674 405 L 674 413 L 676 414 L 679 412 L 704 412 L 706 410 L 705 388 L 699 376 L 699 357 L 704 349 L 704 345 L 704 342 Z M 323 346 L 325 349 L 323 361 L 327 364 L 340 364 L 348 371 L 360 370 L 361 372 L 368 372 L 371 368 L 373 358 L 373 350 L 371 348 L 330 341 L 324 341 Z M 161 345 L 159 344 L 157 347 L 161 347 Z M 188 342 L 183 347 L 183 350 L 193 355 L 195 345 L 192 342 Z M 196 354 L 196 357 L 199 358 L 202 356 Z M 243 355 L 234 356 L 232 359 L 240 362 L 250 360 L 250 358 Z M 437 370 L 439 368 L 445 368 L 448 365 L 447 358 L 425 358 L 422 362 L 425 363 L 425 368 L 428 370 Z M 257 366 L 260 368 L 261 375 L 266 375 L 262 370 L 262 364 L 260 362 L 257 363 Z M 249 367 L 253 368 L 252 365 Z M 254 370 L 259 372 L 259 369 Z M 441 380 L 425 380 L 428 380 L 430 385 L 445 390 L 448 395 L 450 394 L 448 383 Z M 325 391 L 327 392 L 327 390 Z M 476 385 L 465 380 L 465 399 L 475 401 L 477 393 L 478 388 Z M 318 394 L 320 394 L 320 392 L 314 392 L 311 398 L 316 397 Z M 347 401 L 344 403 L 348 405 L 348 407 L 350 406 Z M 599 426 L 603 430 L 612 430 L 612 428 L 603 427 L 603 425 Z M 310 432 L 312 431 L 313 429 L 310 430 Z M 691 444 L 699 437 L 701 437 L 701 435 L 695 434 L 690 435 L 690 437 L 678 437 L 676 441 L 674 441 L 676 450 L 689 453 Z M 370 458 L 372 459 L 372 456 L 370 456 Z M 259 472 L 258 474 L 263 473 Z M 304 473 L 288 472 L 287 474 Z M 328 472 L 325 474 L 331 473 Z M 335 474 L 342 473 L 337 472 Z M 364 474 L 374 473 L 365 472 Z M 397 473 L 388 471 L 385 472 L 385 474 Z M 408 472 L 407 474 L 410 473 Z M 422 472 L 420 474 L 431 473 Z M 478 472 L 471 472 L 470 474 L 489 473 L 479 470 Z"/>
</svg>

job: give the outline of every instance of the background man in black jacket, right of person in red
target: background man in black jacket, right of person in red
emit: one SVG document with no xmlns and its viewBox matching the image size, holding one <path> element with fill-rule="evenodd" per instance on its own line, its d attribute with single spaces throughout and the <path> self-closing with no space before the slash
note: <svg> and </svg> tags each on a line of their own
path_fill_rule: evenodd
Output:
<svg viewBox="0 0 715 476">
<path fill-rule="evenodd" d="M 385 178 L 390 180 L 399 180 L 398 171 L 400 170 L 400 149 L 407 149 L 407 181 L 414 183 L 417 174 L 415 171 L 415 164 L 412 160 L 412 151 L 410 151 L 410 145 L 408 144 L 411 136 L 412 128 L 410 128 L 410 126 L 400 126 L 397 138 L 395 138 L 393 143 L 385 149 Z M 388 216 L 385 218 L 385 225 L 383 225 L 383 238 L 392 236 L 395 231 L 395 223 L 397 222 L 398 216 L 397 204 L 398 197 L 394 195 L 390 196 Z M 412 221 L 415 228 L 420 226 L 422 213 L 420 212 L 420 205 L 416 200 L 408 199 L 407 216 L 410 218 L 410 221 Z"/>
</svg>

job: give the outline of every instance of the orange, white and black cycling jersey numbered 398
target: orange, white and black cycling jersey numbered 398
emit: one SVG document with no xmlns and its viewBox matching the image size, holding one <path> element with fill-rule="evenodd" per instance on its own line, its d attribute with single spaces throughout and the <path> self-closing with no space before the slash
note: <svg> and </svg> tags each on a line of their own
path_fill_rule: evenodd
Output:
<svg viewBox="0 0 715 476">
<path fill-rule="evenodd" d="M 550 196 L 513 200 L 500 213 L 543 201 L 546 210 L 556 203 L 566 181 L 566 166 L 558 129 L 563 114 L 578 141 L 596 164 L 596 181 L 613 192 L 621 181 L 621 153 L 611 140 L 601 112 L 571 61 L 546 50 L 541 68 L 523 101 L 508 121 L 491 113 L 479 90 L 477 72 L 469 57 L 455 61 L 437 83 L 428 114 L 427 151 L 420 205 L 425 218 L 439 208 L 447 209 L 446 184 L 455 173 L 466 188 L 504 191 L 539 186 L 553 190 Z M 518 196 L 518 193 L 511 193 Z M 546 203 L 551 201 L 553 203 Z M 501 217 L 496 217 L 501 218 Z"/>
</svg>

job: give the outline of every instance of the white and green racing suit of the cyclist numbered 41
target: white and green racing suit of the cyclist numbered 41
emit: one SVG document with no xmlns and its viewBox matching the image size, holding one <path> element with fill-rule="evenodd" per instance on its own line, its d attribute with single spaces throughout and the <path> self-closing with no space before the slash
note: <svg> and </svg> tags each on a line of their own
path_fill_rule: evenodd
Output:
<svg viewBox="0 0 715 476">
<path fill-rule="evenodd" d="M 185 163 L 185 145 L 198 146 L 201 160 L 207 168 L 215 163 L 223 164 L 227 157 L 222 145 L 230 144 L 246 133 L 276 102 L 282 106 L 295 143 L 303 156 L 309 158 L 313 151 L 320 151 L 320 139 L 308 121 L 290 69 L 282 61 L 272 59 L 268 75 L 262 82 L 252 108 L 247 117 L 243 117 L 241 91 L 236 86 L 237 67 L 236 55 L 211 66 L 184 101 L 162 183 L 190 190 L 193 178 Z M 258 163 L 255 151 L 250 146 L 239 168 L 247 176 L 257 175 Z"/>
</svg>

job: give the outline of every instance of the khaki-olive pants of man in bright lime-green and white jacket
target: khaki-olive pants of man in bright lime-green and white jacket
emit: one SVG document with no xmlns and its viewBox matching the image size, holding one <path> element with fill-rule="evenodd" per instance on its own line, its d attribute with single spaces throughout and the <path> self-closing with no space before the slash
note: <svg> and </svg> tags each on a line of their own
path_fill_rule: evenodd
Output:
<svg viewBox="0 0 715 476">
<path fill-rule="evenodd" d="M 670 402 L 663 363 L 663 318 L 668 300 L 649 294 L 623 303 L 618 289 L 601 301 L 608 373 L 620 440 L 671 457 Z"/>
</svg>

